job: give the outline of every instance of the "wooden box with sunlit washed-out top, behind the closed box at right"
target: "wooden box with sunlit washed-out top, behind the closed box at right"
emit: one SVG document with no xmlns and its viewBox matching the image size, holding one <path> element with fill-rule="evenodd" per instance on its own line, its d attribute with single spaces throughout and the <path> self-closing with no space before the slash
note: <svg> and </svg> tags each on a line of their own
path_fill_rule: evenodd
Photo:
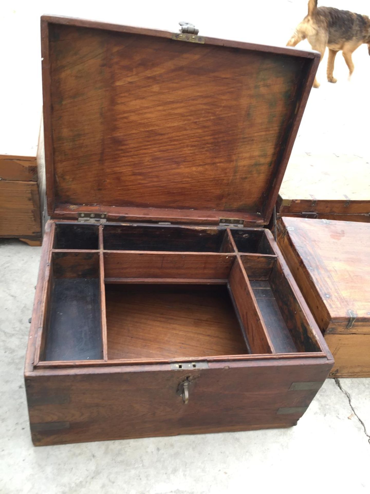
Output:
<svg viewBox="0 0 370 494">
<path fill-rule="evenodd" d="M 335 158 L 334 158 L 335 159 Z M 291 157 L 276 215 L 370 222 L 370 166 L 357 156 Z"/>
</svg>

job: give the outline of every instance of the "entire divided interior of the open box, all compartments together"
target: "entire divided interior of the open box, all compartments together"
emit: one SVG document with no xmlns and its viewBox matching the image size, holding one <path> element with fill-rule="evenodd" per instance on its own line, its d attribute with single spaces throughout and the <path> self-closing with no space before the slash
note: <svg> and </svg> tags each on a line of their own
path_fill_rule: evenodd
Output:
<svg viewBox="0 0 370 494">
<path fill-rule="evenodd" d="M 263 230 L 59 222 L 54 236 L 41 361 L 321 351 Z"/>
</svg>

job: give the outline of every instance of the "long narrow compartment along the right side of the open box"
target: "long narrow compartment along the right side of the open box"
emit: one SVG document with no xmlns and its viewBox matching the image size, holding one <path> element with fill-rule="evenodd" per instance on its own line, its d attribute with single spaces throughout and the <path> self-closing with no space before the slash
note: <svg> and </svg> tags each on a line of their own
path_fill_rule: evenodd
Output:
<svg viewBox="0 0 370 494">
<path fill-rule="evenodd" d="M 250 256 L 242 254 L 241 261 L 248 266 Z M 265 264 L 263 259 L 260 263 Z M 274 259 L 272 267 L 263 266 L 262 272 L 263 276 L 249 279 L 275 352 L 321 352 L 280 260 Z"/>
</svg>

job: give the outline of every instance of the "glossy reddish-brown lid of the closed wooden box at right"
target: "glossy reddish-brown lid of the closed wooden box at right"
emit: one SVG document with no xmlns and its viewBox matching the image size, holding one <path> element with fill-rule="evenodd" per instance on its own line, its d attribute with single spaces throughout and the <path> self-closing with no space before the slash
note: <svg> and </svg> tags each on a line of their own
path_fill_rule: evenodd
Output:
<svg viewBox="0 0 370 494">
<path fill-rule="evenodd" d="M 307 302 L 314 313 L 319 304 L 324 314 L 323 330 L 370 333 L 370 224 L 289 217 L 282 220 L 279 242 L 283 235 Z M 347 329 L 350 310 L 357 317 Z"/>
</svg>

